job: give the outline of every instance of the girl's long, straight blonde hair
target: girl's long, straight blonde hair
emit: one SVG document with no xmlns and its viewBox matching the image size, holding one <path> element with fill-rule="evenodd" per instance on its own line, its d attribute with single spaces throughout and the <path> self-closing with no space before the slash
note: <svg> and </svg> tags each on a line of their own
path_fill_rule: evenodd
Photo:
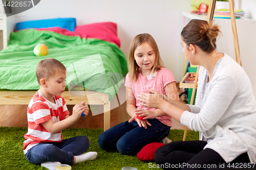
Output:
<svg viewBox="0 0 256 170">
<path fill-rule="evenodd" d="M 130 82 L 136 82 L 136 80 L 138 79 L 140 67 L 135 61 L 134 52 L 136 48 L 144 42 L 147 42 L 148 44 L 150 44 L 155 54 L 155 63 L 153 65 L 152 74 L 158 69 L 160 69 L 161 67 L 165 67 L 160 57 L 160 53 L 159 53 L 158 46 L 155 39 L 150 34 L 146 34 L 146 33 L 139 34 L 136 37 L 134 37 L 129 50 L 128 69 L 129 69 L 129 75 L 130 75 Z"/>
</svg>

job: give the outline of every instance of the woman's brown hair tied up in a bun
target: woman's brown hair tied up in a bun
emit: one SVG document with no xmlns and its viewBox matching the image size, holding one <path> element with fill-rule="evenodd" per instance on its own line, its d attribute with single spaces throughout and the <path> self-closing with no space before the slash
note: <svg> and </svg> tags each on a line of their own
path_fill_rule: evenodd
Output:
<svg viewBox="0 0 256 170">
<path fill-rule="evenodd" d="M 183 41 L 189 46 L 194 44 L 202 51 L 211 53 L 216 49 L 216 38 L 221 34 L 220 27 L 213 25 L 213 21 L 192 19 L 182 30 Z"/>
</svg>

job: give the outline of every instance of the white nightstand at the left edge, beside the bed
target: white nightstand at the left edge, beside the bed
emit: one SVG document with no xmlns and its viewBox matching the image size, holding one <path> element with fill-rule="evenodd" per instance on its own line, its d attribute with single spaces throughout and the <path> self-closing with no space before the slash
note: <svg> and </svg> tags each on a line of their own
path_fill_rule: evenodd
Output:
<svg viewBox="0 0 256 170">
<path fill-rule="evenodd" d="M 6 17 L 5 14 L 0 14 L 0 50 L 7 47 L 11 32 L 15 28 L 15 17 Z"/>
</svg>

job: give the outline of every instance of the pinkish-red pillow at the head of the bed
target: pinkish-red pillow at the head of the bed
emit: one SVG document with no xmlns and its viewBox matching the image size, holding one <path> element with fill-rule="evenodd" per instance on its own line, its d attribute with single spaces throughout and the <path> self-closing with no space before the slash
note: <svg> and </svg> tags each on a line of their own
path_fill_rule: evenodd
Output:
<svg viewBox="0 0 256 170">
<path fill-rule="evenodd" d="M 81 38 L 97 38 L 116 43 L 120 47 L 117 37 L 117 25 L 113 22 L 99 22 L 75 27 L 75 33 Z"/>
</svg>

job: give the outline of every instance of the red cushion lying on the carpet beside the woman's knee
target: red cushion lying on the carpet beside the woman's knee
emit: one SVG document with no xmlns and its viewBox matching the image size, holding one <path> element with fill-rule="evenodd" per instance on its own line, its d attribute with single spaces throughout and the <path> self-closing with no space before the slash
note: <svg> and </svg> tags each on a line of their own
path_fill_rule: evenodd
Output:
<svg viewBox="0 0 256 170">
<path fill-rule="evenodd" d="M 139 160 L 144 162 L 155 161 L 155 152 L 158 148 L 165 145 L 164 143 L 153 142 L 145 145 L 141 151 L 137 154 Z"/>
</svg>

